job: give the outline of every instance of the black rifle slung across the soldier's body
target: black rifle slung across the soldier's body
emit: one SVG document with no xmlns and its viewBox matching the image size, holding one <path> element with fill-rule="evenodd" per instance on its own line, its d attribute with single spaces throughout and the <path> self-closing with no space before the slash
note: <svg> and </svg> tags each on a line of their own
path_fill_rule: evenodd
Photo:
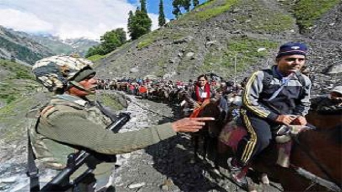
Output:
<svg viewBox="0 0 342 192">
<path fill-rule="evenodd" d="M 120 113 L 116 121 L 113 121 L 106 129 L 117 133 L 130 119 L 130 113 Z M 70 154 L 66 167 L 59 172 L 49 183 L 47 183 L 40 192 L 53 192 L 53 191 L 66 191 L 77 184 L 79 184 L 88 174 L 90 174 L 95 166 L 90 166 L 82 175 L 78 176 L 75 180 L 70 182 L 70 176 L 75 173 L 78 168 L 87 163 L 89 158 L 93 158 L 93 155 L 89 152 L 82 150 L 76 154 Z M 89 167 L 89 166 L 88 166 Z"/>
</svg>

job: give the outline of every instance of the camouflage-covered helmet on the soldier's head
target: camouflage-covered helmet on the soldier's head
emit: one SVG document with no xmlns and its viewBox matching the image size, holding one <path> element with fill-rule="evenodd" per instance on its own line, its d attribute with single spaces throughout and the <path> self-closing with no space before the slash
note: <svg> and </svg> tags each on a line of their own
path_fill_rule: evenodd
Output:
<svg viewBox="0 0 342 192">
<path fill-rule="evenodd" d="M 35 62 L 32 72 L 49 91 L 64 92 L 69 84 L 78 84 L 90 74 L 95 74 L 92 65 L 84 58 L 56 55 Z"/>
</svg>

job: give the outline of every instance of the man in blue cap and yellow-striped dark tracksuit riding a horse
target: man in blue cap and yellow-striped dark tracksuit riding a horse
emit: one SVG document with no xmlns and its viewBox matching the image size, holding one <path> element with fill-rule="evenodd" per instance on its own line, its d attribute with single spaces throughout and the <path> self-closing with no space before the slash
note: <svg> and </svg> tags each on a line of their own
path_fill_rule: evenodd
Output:
<svg viewBox="0 0 342 192">
<path fill-rule="evenodd" d="M 242 95 L 240 124 L 248 134 L 239 142 L 236 157 L 228 162 L 232 179 L 246 187 L 243 172 L 269 146 L 272 132 L 280 125 L 306 125 L 310 108 L 311 81 L 300 70 L 306 61 L 307 46 L 299 42 L 282 45 L 271 69 L 249 78 Z"/>
</svg>

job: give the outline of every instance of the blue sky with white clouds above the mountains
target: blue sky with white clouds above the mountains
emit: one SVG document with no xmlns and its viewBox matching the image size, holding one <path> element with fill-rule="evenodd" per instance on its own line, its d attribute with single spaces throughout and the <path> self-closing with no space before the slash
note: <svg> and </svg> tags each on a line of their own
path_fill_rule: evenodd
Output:
<svg viewBox="0 0 342 192">
<path fill-rule="evenodd" d="M 146 1 L 153 30 L 158 28 L 159 0 Z M 126 30 L 128 12 L 139 5 L 139 0 L 0 0 L 0 25 L 62 39 L 98 40 L 106 31 Z M 164 0 L 164 12 L 167 20 L 174 18 L 172 0 Z"/>
</svg>

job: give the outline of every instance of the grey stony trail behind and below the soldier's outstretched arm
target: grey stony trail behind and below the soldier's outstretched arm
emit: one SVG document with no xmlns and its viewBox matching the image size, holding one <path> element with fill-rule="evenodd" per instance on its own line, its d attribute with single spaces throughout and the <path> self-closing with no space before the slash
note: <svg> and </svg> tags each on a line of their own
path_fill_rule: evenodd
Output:
<svg viewBox="0 0 342 192">
<path fill-rule="evenodd" d="M 120 132 L 134 131 L 172 121 L 177 114 L 167 104 L 128 96 L 132 102 L 124 110 L 131 120 Z M 148 109 L 148 110 L 147 110 Z M 151 110 L 151 111 L 150 111 Z M 146 149 L 118 155 L 115 171 L 117 192 L 242 192 L 228 179 L 228 172 L 219 173 L 212 163 L 193 161 L 193 147 L 189 135 L 179 134 Z M 1 154 L 3 156 L 5 154 Z M 25 157 L 26 152 L 20 154 Z M 26 160 L 0 164 L 0 192 L 28 192 L 25 176 Z M 46 176 L 42 172 L 42 177 Z M 277 185 L 276 185 L 277 186 Z M 264 191 L 279 192 L 277 187 Z"/>
</svg>

